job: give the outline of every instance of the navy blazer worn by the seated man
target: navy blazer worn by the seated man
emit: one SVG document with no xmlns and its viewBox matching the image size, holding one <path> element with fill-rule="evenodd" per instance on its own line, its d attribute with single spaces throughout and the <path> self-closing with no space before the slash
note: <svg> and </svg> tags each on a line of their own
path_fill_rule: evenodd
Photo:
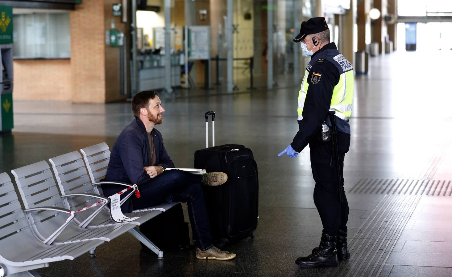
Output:
<svg viewBox="0 0 452 277">
<path fill-rule="evenodd" d="M 162 134 L 154 128 L 151 131 L 151 137 L 154 139 L 155 165 L 163 168 L 174 167 L 174 163 L 163 145 Z M 144 166 L 151 166 L 150 163 L 151 152 L 146 128 L 143 122 L 136 118 L 122 130 L 114 143 L 104 180 L 137 184 L 138 189 L 146 183 L 151 185 L 152 179 L 143 169 Z M 122 185 L 102 185 L 102 189 L 105 196 L 110 196 L 125 189 L 125 187 Z M 121 196 L 125 195 L 127 194 Z M 131 200 L 134 198 L 135 196 L 132 195 L 122 204 L 121 210 L 123 213 L 132 212 L 133 204 Z"/>
</svg>

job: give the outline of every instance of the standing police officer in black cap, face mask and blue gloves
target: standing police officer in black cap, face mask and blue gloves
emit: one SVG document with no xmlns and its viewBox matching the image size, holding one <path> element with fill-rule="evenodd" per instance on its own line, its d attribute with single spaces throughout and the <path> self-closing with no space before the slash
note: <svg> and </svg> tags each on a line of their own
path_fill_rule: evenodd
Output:
<svg viewBox="0 0 452 277">
<path fill-rule="evenodd" d="M 314 203 L 323 225 L 319 247 L 295 263 L 303 268 L 335 267 L 348 259 L 348 203 L 344 192 L 344 157 L 350 146 L 353 67 L 330 43 L 324 17 L 301 23 L 294 38 L 311 56 L 298 92 L 299 131 L 278 156 L 297 157 L 309 143 L 315 180 Z"/>
</svg>

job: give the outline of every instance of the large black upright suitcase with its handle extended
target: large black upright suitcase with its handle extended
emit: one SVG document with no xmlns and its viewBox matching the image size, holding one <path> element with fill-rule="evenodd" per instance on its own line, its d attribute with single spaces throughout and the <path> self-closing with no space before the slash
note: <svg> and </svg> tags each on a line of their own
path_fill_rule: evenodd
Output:
<svg viewBox="0 0 452 277">
<path fill-rule="evenodd" d="M 215 113 L 206 113 L 206 144 L 208 144 L 208 115 L 212 115 L 212 134 L 215 132 Z M 215 145 L 215 137 L 212 135 Z M 219 186 L 202 186 L 212 237 L 218 246 L 227 242 L 254 237 L 258 224 L 258 170 L 253 152 L 240 144 L 212 146 L 195 152 L 194 167 L 207 172 L 222 171 L 228 180 Z"/>
</svg>

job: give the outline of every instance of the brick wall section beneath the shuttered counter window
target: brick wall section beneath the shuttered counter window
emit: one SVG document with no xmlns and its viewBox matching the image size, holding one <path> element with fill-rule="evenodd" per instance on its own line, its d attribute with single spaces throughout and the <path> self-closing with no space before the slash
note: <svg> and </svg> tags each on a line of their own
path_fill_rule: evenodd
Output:
<svg viewBox="0 0 452 277">
<path fill-rule="evenodd" d="M 14 100 L 71 100 L 71 60 L 14 60 Z"/>
</svg>

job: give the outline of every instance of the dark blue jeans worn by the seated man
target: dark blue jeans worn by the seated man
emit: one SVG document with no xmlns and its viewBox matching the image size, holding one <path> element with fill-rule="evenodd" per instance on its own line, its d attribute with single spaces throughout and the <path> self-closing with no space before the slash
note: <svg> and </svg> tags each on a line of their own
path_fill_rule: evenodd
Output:
<svg viewBox="0 0 452 277">
<path fill-rule="evenodd" d="M 138 186 L 141 197 L 133 197 L 134 209 L 149 208 L 167 202 L 185 202 L 192 226 L 193 240 L 201 250 L 213 246 L 209 217 L 201 188 L 201 176 L 169 170 Z"/>
</svg>

